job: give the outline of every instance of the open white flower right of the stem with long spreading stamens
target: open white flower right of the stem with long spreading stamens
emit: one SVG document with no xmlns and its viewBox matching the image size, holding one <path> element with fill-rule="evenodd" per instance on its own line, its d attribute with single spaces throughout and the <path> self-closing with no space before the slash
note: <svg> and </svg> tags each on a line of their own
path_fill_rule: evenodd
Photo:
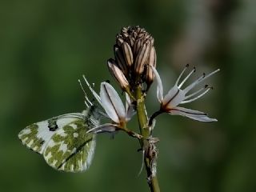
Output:
<svg viewBox="0 0 256 192">
<path fill-rule="evenodd" d="M 195 68 L 190 71 L 190 74 L 186 76 L 180 82 L 180 79 L 182 78 L 182 74 L 186 71 L 189 65 L 186 65 L 186 68 L 182 70 L 182 73 L 179 75 L 175 85 L 168 91 L 168 93 L 163 97 L 163 90 L 162 90 L 162 81 L 158 74 L 158 71 L 153 67 L 150 66 L 154 70 L 155 78 L 158 83 L 157 88 L 157 96 L 158 101 L 161 103 L 161 112 L 166 112 L 168 114 L 174 114 L 174 115 L 182 115 L 186 116 L 187 118 L 192 118 L 194 120 L 198 120 L 200 122 L 217 122 L 216 118 L 209 118 L 207 114 L 198 111 L 198 110 L 190 110 L 186 109 L 184 107 L 178 106 L 179 104 L 184 104 L 188 102 L 194 102 L 198 98 L 201 98 L 204 94 L 206 94 L 211 87 L 204 86 L 201 89 L 195 91 L 192 94 L 187 94 L 194 88 L 194 86 L 197 86 L 198 83 L 204 81 L 206 78 L 209 78 L 211 75 L 217 73 L 218 70 L 214 70 L 214 72 L 210 74 L 203 74 L 200 78 L 198 78 L 196 81 L 192 82 L 189 86 L 186 86 L 186 88 L 181 89 L 183 84 L 186 82 L 188 78 L 190 78 L 190 75 L 195 72 Z M 178 82 L 180 82 L 178 84 Z"/>
</svg>

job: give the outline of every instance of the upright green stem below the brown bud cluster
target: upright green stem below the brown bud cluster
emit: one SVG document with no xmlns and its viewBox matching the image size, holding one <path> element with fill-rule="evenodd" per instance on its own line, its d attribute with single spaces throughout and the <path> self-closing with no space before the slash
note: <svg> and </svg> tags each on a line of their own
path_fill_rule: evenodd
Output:
<svg viewBox="0 0 256 192">
<path fill-rule="evenodd" d="M 138 116 L 139 129 L 143 136 L 143 138 L 140 139 L 140 145 L 142 147 L 142 150 L 147 150 L 146 147 L 150 146 L 149 140 L 147 139 L 150 137 L 150 129 L 147 125 L 148 118 L 146 115 L 145 101 L 142 94 L 141 86 L 136 87 L 135 98 L 137 100 L 137 116 Z M 150 155 L 144 156 L 144 162 L 146 166 L 146 173 L 148 178 L 148 184 L 150 186 L 150 191 L 159 192 L 160 188 L 158 186 L 158 178 L 156 175 L 152 175 L 152 171 L 151 171 L 151 162 L 153 160 L 154 159 L 152 159 Z"/>
</svg>

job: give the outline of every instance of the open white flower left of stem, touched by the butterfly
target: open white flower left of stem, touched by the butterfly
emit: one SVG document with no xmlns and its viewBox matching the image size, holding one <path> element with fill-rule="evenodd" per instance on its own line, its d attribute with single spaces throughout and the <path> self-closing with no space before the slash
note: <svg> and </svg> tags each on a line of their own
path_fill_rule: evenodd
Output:
<svg viewBox="0 0 256 192">
<path fill-rule="evenodd" d="M 114 87 L 108 82 L 101 83 L 100 94 L 98 95 L 94 89 L 90 86 L 89 82 L 84 77 L 87 86 L 90 88 L 94 98 L 106 111 L 106 116 L 113 122 L 105 123 L 101 126 L 94 127 L 87 132 L 101 133 L 101 132 L 114 132 L 116 130 L 125 129 L 126 122 L 130 120 L 134 114 L 134 107 L 130 102 L 129 96 L 126 94 L 126 107 L 122 104 L 121 98 L 118 96 Z"/>
</svg>

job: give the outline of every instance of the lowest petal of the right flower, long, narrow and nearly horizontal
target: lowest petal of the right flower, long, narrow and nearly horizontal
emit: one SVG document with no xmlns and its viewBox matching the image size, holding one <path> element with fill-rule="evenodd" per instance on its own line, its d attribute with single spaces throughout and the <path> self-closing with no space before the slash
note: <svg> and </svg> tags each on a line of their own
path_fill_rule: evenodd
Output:
<svg viewBox="0 0 256 192">
<path fill-rule="evenodd" d="M 197 120 L 199 122 L 217 122 L 218 120 L 216 118 L 209 118 L 207 114 L 198 111 L 198 110 L 190 110 L 186 109 L 184 107 L 174 107 L 169 111 L 169 114 L 173 115 L 182 115 L 187 118 L 192 118 L 194 120 Z"/>
</svg>

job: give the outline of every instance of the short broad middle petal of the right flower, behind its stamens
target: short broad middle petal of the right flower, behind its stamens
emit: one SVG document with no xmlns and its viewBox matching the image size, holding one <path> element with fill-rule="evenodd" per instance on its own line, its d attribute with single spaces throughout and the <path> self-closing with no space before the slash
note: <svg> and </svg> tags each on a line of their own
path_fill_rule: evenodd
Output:
<svg viewBox="0 0 256 192">
<path fill-rule="evenodd" d="M 185 92 L 178 89 L 178 86 L 175 85 L 168 91 L 168 94 L 163 98 L 162 105 L 166 106 L 167 109 L 171 109 L 174 106 L 178 106 L 185 98 Z"/>
</svg>

